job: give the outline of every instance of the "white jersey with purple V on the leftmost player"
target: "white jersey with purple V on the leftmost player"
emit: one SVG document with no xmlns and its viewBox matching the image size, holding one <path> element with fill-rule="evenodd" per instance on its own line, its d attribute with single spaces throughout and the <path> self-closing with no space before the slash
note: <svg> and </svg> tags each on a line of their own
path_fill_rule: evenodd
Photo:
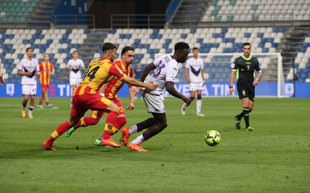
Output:
<svg viewBox="0 0 310 193">
<path fill-rule="evenodd" d="M 29 61 L 27 58 L 23 58 L 20 60 L 20 65 L 17 68 L 22 72 L 30 71 L 32 74 L 30 76 L 23 75 L 21 77 L 21 84 L 23 85 L 37 85 L 37 78 L 35 77 L 36 72 L 40 71 L 38 60 L 32 58 Z"/>
</svg>

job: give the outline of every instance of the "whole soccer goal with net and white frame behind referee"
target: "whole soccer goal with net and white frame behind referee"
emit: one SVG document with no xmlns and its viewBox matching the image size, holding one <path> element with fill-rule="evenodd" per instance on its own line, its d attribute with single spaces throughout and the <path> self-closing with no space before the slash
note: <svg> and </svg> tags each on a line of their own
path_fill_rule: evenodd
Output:
<svg viewBox="0 0 310 193">
<path fill-rule="evenodd" d="M 231 68 L 230 64 L 243 53 L 199 53 L 198 58 L 204 62 L 205 89 L 211 90 L 214 95 L 229 96 L 229 84 Z M 154 54 L 154 60 L 165 54 Z M 189 58 L 193 54 L 188 55 Z M 262 69 L 262 77 L 259 85 L 255 86 L 255 96 L 286 97 L 285 79 L 282 69 L 281 53 L 251 53 L 251 56 L 258 59 Z M 185 63 L 178 64 L 179 72 L 176 83 L 188 84 L 184 75 Z M 255 77 L 257 72 L 255 71 Z M 234 89 L 237 92 L 237 79 L 234 81 Z M 208 88 L 211 87 L 211 88 Z M 218 90 L 215 90 L 218 87 Z M 210 93 L 210 92 L 208 92 Z M 235 95 L 238 95 L 235 93 Z"/>
</svg>

